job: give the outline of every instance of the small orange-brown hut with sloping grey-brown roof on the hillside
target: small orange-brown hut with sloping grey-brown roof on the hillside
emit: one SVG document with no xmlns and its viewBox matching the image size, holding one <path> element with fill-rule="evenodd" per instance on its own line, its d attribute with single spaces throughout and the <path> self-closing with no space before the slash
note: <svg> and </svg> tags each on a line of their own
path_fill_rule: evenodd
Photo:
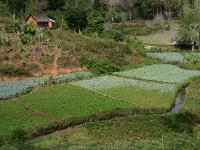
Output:
<svg viewBox="0 0 200 150">
<path fill-rule="evenodd" d="M 25 20 L 26 24 L 33 24 L 38 28 L 51 28 L 55 20 L 48 18 L 46 15 L 29 15 Z"/>
</svg>

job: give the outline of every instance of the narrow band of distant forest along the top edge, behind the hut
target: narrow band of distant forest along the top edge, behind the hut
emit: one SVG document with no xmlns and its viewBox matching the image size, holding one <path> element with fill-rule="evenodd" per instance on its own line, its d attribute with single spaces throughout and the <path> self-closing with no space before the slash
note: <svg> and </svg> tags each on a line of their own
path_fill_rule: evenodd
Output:
<svg viewBox="0 0 200 150">
<path fill-rule="evenodd" d="M 46 12 L 56 18 L 65 17 L 72 9 L 81 12 L 97 10 L 109 21 L 134 18 L 152 19 L 157 13 L 167 19 L 181 17 L 185 3 L 194 0 L 0 0 L 1 15 L 25 17 Z"/>
</svg>

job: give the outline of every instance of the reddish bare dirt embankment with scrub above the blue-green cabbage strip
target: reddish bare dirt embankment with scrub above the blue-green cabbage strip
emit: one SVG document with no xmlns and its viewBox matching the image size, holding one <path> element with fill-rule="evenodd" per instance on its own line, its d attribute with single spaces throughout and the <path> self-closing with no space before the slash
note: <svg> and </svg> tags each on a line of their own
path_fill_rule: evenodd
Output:
<svg viewBox="0 0 200 150">
<path fill-rule="evenodd" d="M 6 56 L 6 59 L 5 59 Z M 21 66 L 30 72 L 30 76 L 58 75 L 77 71 L 87 71 L 86 67 L 80 67 L 79 62 L 72 55 L 57 47 L 48 49 L 34 49 L 27 52 L 0 51 L 0 63 Z M 30 76 L 1 75 L 0 81 L 16 81 Z"/>
</svg>

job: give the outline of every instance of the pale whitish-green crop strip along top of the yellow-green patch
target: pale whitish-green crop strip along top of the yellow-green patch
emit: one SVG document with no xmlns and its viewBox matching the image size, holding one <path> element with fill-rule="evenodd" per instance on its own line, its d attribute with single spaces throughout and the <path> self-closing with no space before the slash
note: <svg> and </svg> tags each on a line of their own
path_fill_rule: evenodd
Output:
<svg viewBox="0 0 200 150">
<path fill-rule="evenodd" d="M 87 88 L 89 90 L 106 89 L 117 86 L 135 86 L 148 90 L 160 90 L 162 92 L 172 92 L 176 89 L 175 84 L 145 82 L 117 76 L 103 76 L 89 80 L 73 82 L 72 84 Z"/>
</svg>

